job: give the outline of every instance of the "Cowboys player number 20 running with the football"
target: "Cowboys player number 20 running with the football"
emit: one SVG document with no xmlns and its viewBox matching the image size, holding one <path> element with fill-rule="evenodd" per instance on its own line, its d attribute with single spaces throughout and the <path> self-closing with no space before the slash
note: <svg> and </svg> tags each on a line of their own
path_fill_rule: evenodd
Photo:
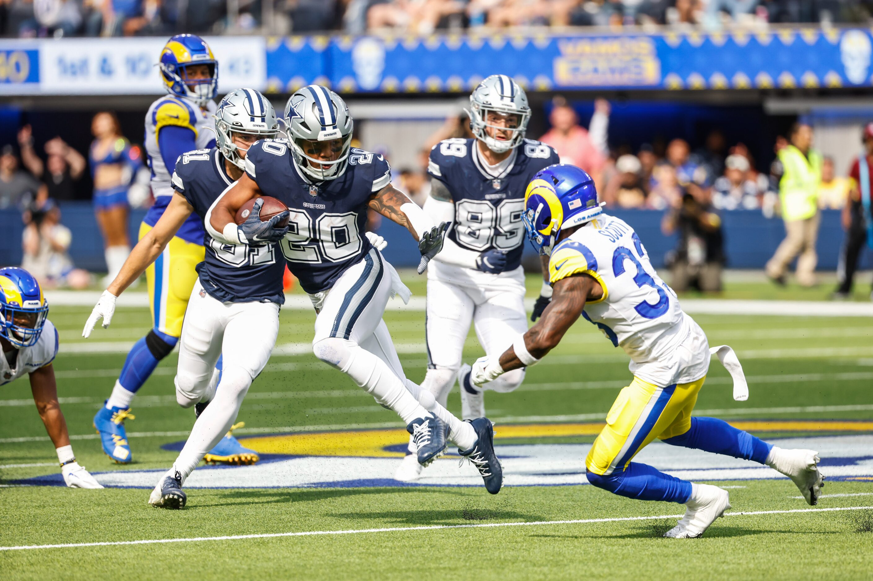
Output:
<svg viewBox="0 0 873 581">
<path fill-rule="evenodd" d="M 281 241 L 289 268 L 318 313 L 316 357 L 400 415 L 416 442 L 419 462 L 427 464 L 443 453 L 448 432 L 448 440 L 471 459 L 488 491 L 496 494 L 503 475 L 492 447 L 491 422 L 457 420 L 406 379 L 382 313 L 388 297 L 399 293 L 406 300 L 409 290 L 361 236 L 368 208 L 406 226 L 419 241 L 423 272 L 443 245 L 444 225 L 435 225 L 391 185 L 382 155 L 350 147 L 353 121 L 335 92 L 319 85 L 295 92 L 285 106 L 285 123 L 289 140 L 262 140 L 249 150 L 244 176 L 210 209 L 210 236 L 247 243 L 244 229 L 233 220 L 237 210 L 261 193 L 285 202 L 290 231 L 270 237 Z"/>
</svg>

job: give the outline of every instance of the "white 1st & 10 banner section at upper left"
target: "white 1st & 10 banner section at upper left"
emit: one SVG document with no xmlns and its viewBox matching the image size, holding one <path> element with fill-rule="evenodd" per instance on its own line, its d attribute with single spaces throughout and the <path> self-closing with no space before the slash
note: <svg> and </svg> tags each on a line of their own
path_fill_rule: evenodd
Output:
<svg viewBox="0 0 873 581">
<path fill-rule="evenodd" d="M 0 44 L 0 94 L 160 94 L 164 89 L 156 63 L 166 42 L 67 38 L 20 43 L 18 48 L 17 41 L 8 41 Z M 264 38 L 214 37 L 207 42 L 219 61 L 219 92 L 265 88 Z"/>
</svg>

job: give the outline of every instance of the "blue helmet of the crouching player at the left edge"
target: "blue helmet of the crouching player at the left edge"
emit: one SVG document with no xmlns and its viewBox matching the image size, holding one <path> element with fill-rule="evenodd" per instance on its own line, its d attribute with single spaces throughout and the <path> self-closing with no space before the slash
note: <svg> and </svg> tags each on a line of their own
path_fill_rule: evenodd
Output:
<svg viewBox="0 0 873 581">
<path fill-rule="evenodd" d="M 36 345 L 49 305 L 37 279 L 19 268 L 0 269 L 0 335 L 16 349 Z"/>
</svg>

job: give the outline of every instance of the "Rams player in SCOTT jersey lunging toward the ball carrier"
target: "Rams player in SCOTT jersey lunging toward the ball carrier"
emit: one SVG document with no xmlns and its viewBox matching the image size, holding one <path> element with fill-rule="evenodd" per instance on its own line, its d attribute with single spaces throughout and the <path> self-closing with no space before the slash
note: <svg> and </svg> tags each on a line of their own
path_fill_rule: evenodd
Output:
<svg viewBox="0 0 873 581">
<path fill-rule="evenodd" d="M 474 384 L 532 366 L 581 315 L 622 346 L 634 374 L 585 460 L 588 482 L 629 498 L 684 503 L 685 516 L 664 536 L 699 537 L 731 508 L 727 491 L 631 461 L 658 438 L 766 464 L 790 477 L 809 504 L 818 502 L 823 478 L 816 452 L 783 450 L 725 421 L 691 417 L 710 363 L 706 335 L 657 276 L 634 229 L 601 212 L 591 176 L 578 167 L 546 167 L 527 188 L 524 220 L 534 246 L 551 256 L 552 302 L 499 357 L 476 361 Z M 726 345 L 714 350 L 719 359 L 732 354 Z M 739 361 L 734 363 L 734 381 L 745 386 Z"/>
</svg>

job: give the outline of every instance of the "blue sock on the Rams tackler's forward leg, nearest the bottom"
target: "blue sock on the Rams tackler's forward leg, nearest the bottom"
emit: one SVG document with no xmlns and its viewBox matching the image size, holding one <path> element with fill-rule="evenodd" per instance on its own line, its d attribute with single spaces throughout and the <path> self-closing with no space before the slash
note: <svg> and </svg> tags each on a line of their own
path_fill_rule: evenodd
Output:
<svg viewBox="0 0 873 581">
<path fill-rule="evenodd" d="M 659 500 L 683 503 L 691 496 L 691 482 L 680 480 L 652 468 L 648 464 L 630 462 L 628 468 L 615 470 L 608 476 L 588 472 L 588 482 L 598 489 L 637 500 Z"/>
</svg>

